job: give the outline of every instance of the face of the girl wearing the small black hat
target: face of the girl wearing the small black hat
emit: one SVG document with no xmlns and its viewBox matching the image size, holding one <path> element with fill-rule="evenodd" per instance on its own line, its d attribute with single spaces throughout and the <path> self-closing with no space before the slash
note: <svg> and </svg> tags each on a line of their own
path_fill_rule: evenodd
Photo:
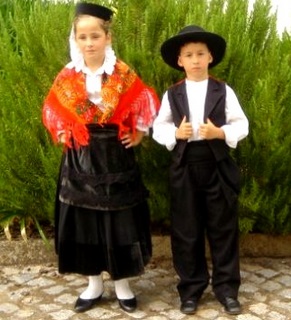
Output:
<svg viewBox="0 0 291 320">
<path fill-rule="evenodd" d="M 93 16 L 81 16 L 75 23 L 76 43 L 88 67 L 100 67 L 111 36 L 103 27 L 104 21 Z"/>
</svg>

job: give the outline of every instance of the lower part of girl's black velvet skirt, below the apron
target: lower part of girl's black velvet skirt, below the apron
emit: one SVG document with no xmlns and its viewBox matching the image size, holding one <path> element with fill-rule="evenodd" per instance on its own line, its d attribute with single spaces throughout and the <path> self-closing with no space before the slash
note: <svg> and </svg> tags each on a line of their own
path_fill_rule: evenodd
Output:
<svg viewBox="0 0 291 320">
<path fill-rule="evenodd" d="M 152 256 L 146 202 L 118 211 L 97 211 L 58 203 L 56 252 L 60 273 L 113 280 L 140 275 Z"/>
</svg>

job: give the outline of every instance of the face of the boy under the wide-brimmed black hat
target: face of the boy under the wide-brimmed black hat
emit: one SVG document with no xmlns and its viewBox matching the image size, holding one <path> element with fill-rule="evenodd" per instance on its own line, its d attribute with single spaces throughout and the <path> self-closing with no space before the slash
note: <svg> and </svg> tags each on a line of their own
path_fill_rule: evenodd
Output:
<svg viewBox="0 0 291 320">
<path fill-rule="evenodd" d="M 208 78 L 208 66 L 213 61 L 205 43 L 189 42 L 181 47 L 178 65 L 184 68 L 187 79 L 202 81 Z"/>
</svg>

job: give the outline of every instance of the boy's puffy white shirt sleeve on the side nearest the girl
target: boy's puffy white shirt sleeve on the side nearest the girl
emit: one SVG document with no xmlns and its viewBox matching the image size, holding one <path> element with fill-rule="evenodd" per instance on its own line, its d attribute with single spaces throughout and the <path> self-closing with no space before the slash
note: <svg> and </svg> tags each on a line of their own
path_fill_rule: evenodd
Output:
<svg viewBox="0 0 291 320">
<path fill-rule="evenodd" d="M 162 104 L 157 118 L 153 123 L 153 139 L 167 147 L 169 151 L 176 145 L 176 126 L 173 122 L 172 111 L 166 92 L 162 98 Z"/>
</svg>

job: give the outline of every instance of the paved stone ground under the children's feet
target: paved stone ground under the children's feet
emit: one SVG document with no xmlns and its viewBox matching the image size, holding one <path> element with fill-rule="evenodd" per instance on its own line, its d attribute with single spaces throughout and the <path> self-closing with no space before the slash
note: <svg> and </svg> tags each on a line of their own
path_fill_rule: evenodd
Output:
<svg viewBox="0 0 291 320">
<path fill-rule="evenodd" d="M 119 308 L 113 283 L 105 273 L 105 292 L 100 304 L 83 314 L 76 314 L 73 305 L 86 288 L 87 279 L 80 275 L 60 275 L 55 261 L 43 261 L 26 265 L 0 262 L 1 320 L 291 319 L 291 257 L 241 258 L 239 299 L 243 313 L 238 316 L 224 312 L 211 287 L 203 295 L 195 315 L 180 313 L 176 291 L 178 278 L 167 254 L 154 256 L 145 274 L 130 280 L 138 300 L 136 312 L 127 314 Z"/>
</svg>

